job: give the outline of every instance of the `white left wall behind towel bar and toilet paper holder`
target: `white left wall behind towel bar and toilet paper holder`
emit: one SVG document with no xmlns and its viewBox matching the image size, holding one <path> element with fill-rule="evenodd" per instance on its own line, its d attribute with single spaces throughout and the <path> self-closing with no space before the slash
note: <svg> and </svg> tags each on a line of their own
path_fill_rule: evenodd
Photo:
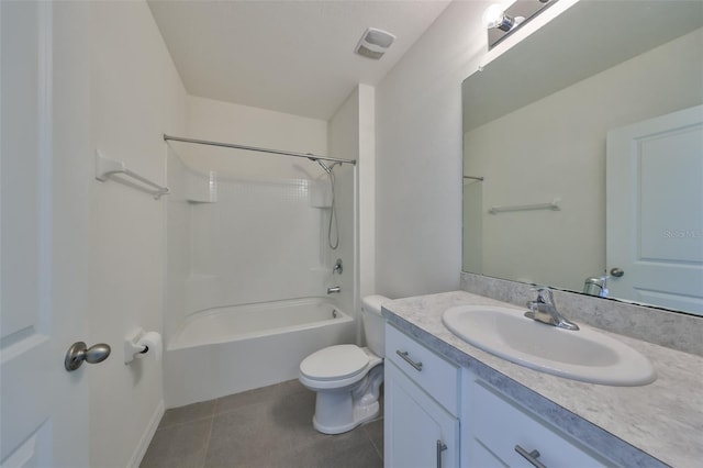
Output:
<svg viewBox="0 0 703 468">
<path fill-rule="evenodd" d="M 186 93 L 145 2 L 90 3 L 92 148 L 165 180 L 161 133 L 185 130 Z M 82 164 L 92 171 L 93 154 Z M 163 411 L 161 366 L 126 366 L 122 344 L 142 326 L 161 330 L 165 199 L 114 180 L 90 187 L 89 321 L 112 356 L 90 375 L 90 465 L 137 464 Z"/>
</svg>

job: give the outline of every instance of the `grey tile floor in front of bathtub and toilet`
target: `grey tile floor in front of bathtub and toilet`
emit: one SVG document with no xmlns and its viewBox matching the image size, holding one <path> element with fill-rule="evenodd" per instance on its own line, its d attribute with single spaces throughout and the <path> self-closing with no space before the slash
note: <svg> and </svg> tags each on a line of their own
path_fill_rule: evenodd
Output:
<svg viewBox="0 0 703 468">
<path fill-rule="evenodd" d="M 314 408 L 315 393 L 290 380 L 167 410 L 141 468 L 383 467 L 382 417 L 325 435 Z"/>
</svg>

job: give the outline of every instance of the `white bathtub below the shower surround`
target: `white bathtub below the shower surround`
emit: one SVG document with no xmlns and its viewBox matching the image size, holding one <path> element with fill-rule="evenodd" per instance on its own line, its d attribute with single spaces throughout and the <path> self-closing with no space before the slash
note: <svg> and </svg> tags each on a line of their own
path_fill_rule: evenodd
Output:
<svg viewBox="0 0 703 468">
<path fill-rule="evenodd" d="M 166 408 L 182 406 L 298 378 L 309 354 L 355 343 L 356 323 L 327 298 L 303 298 L 198 312 L 168 339 Z"/>
</svg>

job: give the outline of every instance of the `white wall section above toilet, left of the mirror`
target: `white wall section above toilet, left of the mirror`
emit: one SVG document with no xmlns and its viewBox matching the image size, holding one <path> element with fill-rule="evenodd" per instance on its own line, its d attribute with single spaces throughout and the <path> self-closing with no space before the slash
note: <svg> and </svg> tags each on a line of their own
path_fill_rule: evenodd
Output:
<svg viewBox="0 0 703 468">
<path fill-rule="evenodd" d="M 486 51 L 488 4 L 453 2 L 377 87 L 379 293 L 459 287 L 460 85 Z"/>
</svg>

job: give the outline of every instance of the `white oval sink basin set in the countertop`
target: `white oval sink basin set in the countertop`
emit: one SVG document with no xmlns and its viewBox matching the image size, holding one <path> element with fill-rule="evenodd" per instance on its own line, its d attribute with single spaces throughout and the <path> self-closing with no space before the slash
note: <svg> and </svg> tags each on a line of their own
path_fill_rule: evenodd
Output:
<svg viewBox="0 0 703 468">
<path fill-rule="evenodd" d="M 503 359 L 555 376 L 609 386 L 644 386 L 657 379 L 649 359 L 588 326 L 558 328 L 516 309 L 459 305 L 443 315 L 465 342 Z"/>
</svg>

